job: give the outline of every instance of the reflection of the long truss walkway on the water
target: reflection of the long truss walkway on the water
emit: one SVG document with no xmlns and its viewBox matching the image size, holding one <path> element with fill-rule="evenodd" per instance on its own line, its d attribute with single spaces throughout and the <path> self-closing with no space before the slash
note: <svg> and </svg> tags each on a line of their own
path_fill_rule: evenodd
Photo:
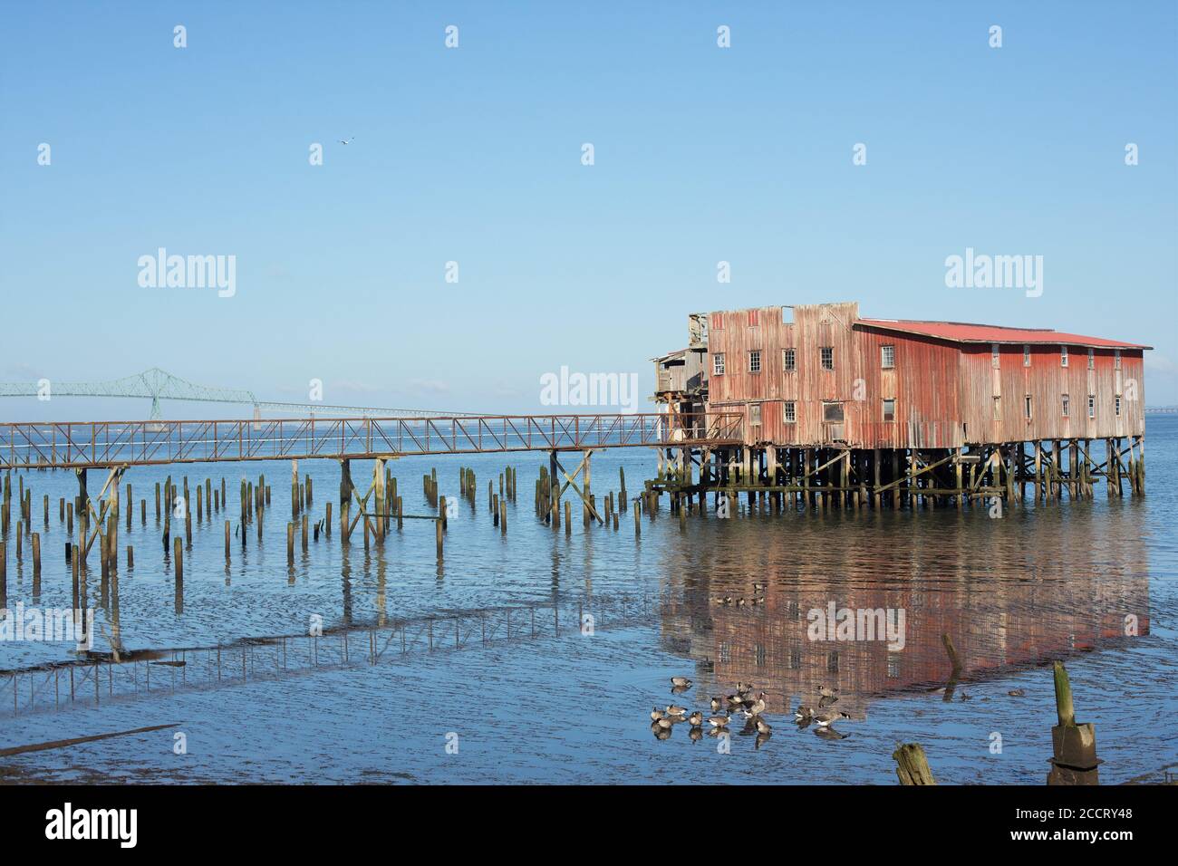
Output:
<svg viewBox="0 0 1178 866">
<path fill-rule="evenodd" d="M 0 673 L 0 713 L 65 709 L 75 703 L 93 706 L 104 700 L 171 694 L 183 688 L 216 688 L 329 668 L 377 665 L 413 652 L 591 635 L 598 629 L 649 623 L 655 607 L 649 597 L 585 596 L 382 620 L 369 626 L 324 629 L 319 635 L 246 637 L 216 647 L 130 650 L 121 653 L 119 660 L 105 653 L 90 653 L 85 661 Z"/>
</svg>

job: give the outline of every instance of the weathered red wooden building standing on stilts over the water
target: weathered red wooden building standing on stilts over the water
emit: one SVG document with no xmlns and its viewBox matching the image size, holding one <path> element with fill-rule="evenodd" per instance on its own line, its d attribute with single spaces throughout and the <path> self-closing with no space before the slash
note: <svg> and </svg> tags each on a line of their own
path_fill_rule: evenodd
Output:
<svg viewBox="0 0 1178 866">
<path fill-rule="evenodd" d="M 744 442 L 668 449 L 654 493 L 673 510 L 918 508 L 1145 491 L 1143 353 L 1052 330 L 861 318 L 858 303 L 690 317 L 690 396 L 660 372 L 669 412 L 744 417 Z"/>
</svg>

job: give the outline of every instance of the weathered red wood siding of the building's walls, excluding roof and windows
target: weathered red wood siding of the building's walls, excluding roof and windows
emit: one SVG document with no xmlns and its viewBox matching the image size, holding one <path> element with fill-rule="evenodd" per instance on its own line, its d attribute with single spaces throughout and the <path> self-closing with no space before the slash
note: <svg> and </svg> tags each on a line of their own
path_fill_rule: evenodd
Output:
<svg viewBox="0 0 1178 866">
<path fill-rule="evenodd" d="M 743 411 L 750 445 L 852 448 L 960 448 L 966 444 L 1044 438 L 1105 438 L 1144 434 L 1140 349 L 1068 346 L 1060 364 L 1059 345 L 1031 346 L 1024 364 L 1021 343 L 999 344 L 999 366 L 991 344 L 901 333 L 859 322 L 855 303 L 754 308 L 717 311 L 709 317 L 709 408 Z M 894 364 L 884 366 L 884 348 Z M 833 351 L 823 369 L 822 349 Z M 794 369 L 785 369 L 782 350 L 794 350 Z M 760 370 L 750 364 L 760 352 Z M 723 373 L 716 357 L 723 356 Z M 1032 396 L 1032 417 L 1025 397 Z M 1063 395 L 1068 395 L 1068 415 Z M 1096 396 L 1096 417 L 1087 398 Z M 1116 397 L 1121 396 L 1120 415 Z M 993 398 L 1000 396 L 1000 418 Z M 894 419 L 885 421 L 884 401 L 894 399 Z M 793 423 L 785 421 L 787 402 Z M 842 423 L 823 421 L 823 403 L 842 405 Z M 760 408 L 760 423 L 756 411 Z"/>
</svg>

